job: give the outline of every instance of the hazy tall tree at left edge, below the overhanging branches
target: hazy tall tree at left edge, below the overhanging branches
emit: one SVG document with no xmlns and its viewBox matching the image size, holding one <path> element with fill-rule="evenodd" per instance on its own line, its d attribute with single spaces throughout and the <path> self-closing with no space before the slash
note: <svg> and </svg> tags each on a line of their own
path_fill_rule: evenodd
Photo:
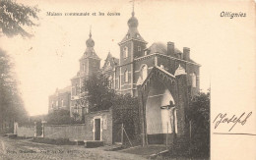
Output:
<svg viewBox="0 0 256 160">
<path fill-rule="evenodd" d="M 2 49 L 0 49 L 0 93 L 1 131 L 11 130 L 14 121 L 25 121 L 28 115 L 17 87 L 13 63 Z"/>
</svg>

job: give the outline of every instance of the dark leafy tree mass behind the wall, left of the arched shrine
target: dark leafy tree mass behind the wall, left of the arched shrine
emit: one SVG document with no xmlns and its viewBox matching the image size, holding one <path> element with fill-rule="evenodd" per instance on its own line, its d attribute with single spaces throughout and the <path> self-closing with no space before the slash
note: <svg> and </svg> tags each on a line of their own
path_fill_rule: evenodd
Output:
<svg viewBox="0 0 256 160">
<path fill-rule="evenodd" d="M 82 92 L 88 93 L 85 94 L 84 99 L 89 101 L 90 112 L 107 110 L 111 107 L 114 140 L 120 140 L 121 126 L 124 126 L 133 143 L 140 142 L 140 119 L 137 98 L 132 97 L 130 94 L 117 94 L 109 87 L 109 81 L 102 74 L 93 75 L 88 80 L 85 80 L 84 83 Z M 127 138 L 127 136 L 125 137 Z M 127 139 L 126 141 L 128 142 Z"/>
</svg>

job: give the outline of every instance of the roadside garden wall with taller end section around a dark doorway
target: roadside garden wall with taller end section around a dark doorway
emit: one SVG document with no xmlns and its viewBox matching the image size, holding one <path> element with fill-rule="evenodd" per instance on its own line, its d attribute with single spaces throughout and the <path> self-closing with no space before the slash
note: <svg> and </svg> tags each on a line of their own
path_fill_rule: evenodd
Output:
<svg viewBox="0 0 256 160">
<path fill-rule="evenodd" d="M 98 111 L 85 115 L 85 124 L 77 125 L 46 125 L 44 137 L 69 138 L 79 140 L 95 140 L 95 119 L 100 119 L 101 139 L 107 144 L 112 143 L 112 111 Z"/>
</svg>

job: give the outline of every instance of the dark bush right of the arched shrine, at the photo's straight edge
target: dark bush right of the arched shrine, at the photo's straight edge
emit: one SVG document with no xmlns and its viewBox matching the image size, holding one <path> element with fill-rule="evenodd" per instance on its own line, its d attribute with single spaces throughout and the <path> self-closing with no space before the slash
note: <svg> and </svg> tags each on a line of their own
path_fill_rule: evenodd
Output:
<svg viewBox="0 0 256 160">
<path fill-rule="evenodd" d="M 191 121 L 193 155 L 210 155 L 210 92 L 195 96 L 188 110 Z"/>
</svg>

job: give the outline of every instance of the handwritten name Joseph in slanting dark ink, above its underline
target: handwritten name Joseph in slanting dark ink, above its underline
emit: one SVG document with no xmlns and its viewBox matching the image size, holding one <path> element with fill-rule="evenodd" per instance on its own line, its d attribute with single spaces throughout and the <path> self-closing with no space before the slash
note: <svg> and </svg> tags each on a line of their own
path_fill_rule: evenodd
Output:
<svg viewBox="0 0 256 160">
<path fill-rule="evenodd" d="M 215 124 L 215 129 L 218 128 L 218 126 L 220 124 L 229 124 L 229 123 L 233 123 L 233 126 L 230 128 L 230 130 L 228 132 L 230 132 L 234 126 L 238 123 L 238 124 L 241 124 L 242 126 L 246 124 L 247 120 L 249 119 L 249 117 L 252 115 L 252 112 L 248 113 L 247 116 L 245 115 L 245 112 L 243 112 L 240 116 L 236 116 L 236 115 L 233 115 L 231 118 L 228 118 L 226 117 L 226 113 L 225 114 L 222 114 L 220 113 L 215 121 L 213 123 L 216 122 Z"/>
</svg>

